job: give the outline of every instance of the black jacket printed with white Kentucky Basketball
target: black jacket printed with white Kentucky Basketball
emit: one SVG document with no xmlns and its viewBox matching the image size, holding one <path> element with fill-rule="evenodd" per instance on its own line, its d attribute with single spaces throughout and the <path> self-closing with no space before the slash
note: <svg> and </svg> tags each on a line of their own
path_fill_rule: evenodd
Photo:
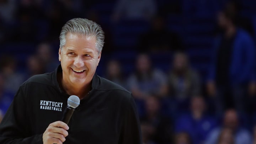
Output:
<svg viewBox="0 0 256 144">
<path fill-rule="evenodd" d="M 50 123 L 59 121 L 69 95 L 60 89 L 57 73 L 25 81 L 0 124 L 1 144 L 40 144 Z M 69 122 L 64 144 L 142 144 L 132 94 L 97 74 L 92 90 L 80 101 Z"/>
</svg>

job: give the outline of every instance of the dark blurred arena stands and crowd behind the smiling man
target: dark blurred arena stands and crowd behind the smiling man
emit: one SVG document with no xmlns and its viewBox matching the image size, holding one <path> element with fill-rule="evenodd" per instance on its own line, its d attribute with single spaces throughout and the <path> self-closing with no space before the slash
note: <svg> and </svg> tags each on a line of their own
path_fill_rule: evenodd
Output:
<svg viewBox="0 0 256 144">
<path fill-rule="evenodd" d="M 255 0 L 0 0 L 0 121 L 75 17 L 102 26 L 96 72 L 132 91 L 144 144 L 256 144 Z"/>
</svg>

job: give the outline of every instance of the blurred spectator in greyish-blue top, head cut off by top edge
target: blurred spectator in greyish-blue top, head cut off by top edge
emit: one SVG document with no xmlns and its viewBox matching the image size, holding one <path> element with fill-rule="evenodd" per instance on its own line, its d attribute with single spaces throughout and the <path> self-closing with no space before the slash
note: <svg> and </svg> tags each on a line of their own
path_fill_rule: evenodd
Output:
<svg viewBox="0 0 256 144">
<path fill-rule="evenodd" d="M 156 13 L 155 0 L 118 0 L 112 18 L 114 22 L 121 18 L 148 20 Z"/>
</svg>

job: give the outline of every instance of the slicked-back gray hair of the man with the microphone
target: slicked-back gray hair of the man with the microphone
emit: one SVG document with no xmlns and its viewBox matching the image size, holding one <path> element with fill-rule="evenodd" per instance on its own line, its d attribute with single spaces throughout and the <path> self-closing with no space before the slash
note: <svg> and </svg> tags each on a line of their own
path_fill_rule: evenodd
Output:
<svg viewBox="0 0 256 144">
<path fill-rule="evenodd" d="M 96 37 L 96 48 L 101 52 L 104 44 L 104 32 L 100 25 L 86 18 L 73 18 L 66 22 L 60 32 L 60 48 L 66 44 L 66 34 L 68 32 L 79 34 L 81 36 Z"/>
</svg>

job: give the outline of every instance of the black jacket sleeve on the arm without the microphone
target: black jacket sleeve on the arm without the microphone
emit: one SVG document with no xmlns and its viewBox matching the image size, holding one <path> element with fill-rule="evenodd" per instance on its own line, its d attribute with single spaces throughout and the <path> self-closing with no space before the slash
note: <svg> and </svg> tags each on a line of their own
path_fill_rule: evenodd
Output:
<svg viewBox="0 0 256 144">
<path fill-rule="evenodd" d="M 124 104 L 123 124 L 118 144 L 142 144 L 137 108 L 132 96 Z"/>
</svg>

